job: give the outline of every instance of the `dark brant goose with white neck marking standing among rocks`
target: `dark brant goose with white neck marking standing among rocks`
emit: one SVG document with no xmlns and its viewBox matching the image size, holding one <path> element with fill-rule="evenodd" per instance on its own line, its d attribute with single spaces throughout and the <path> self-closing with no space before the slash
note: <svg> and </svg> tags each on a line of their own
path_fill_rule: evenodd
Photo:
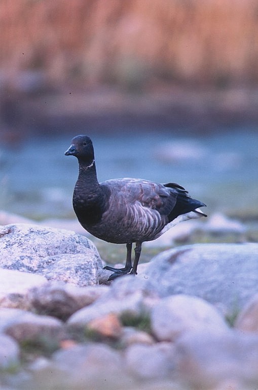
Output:
<svg viewBox="0 0 258 390">
<path fill-rule="evenodd" d="M 143 241 L 155 240 L 180 220 L 206 216 L 199 209 L 206 205 L 190 198 L 188 191 L 176 183 L 158 184 L 131 178 L 99 183 L 92 141 L 87 136 L 73 138 L 65 155 L 76 156 L 79 161 L 72 205 L 83 228 L 101 240 L 126 244 L 125 267 L 105 267 L 114 271 L 109 280 L 137 274 Z M 133 266 L 132 243 L 135 243 Z"/>
</svg>

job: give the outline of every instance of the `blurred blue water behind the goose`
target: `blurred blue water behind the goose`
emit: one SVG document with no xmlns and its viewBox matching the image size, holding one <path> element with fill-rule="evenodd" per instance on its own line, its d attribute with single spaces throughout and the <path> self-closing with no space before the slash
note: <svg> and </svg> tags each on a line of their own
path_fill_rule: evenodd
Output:
<svg viewBox="0 0 258 390">
<path fill-rule="evenodd" d="M 258 218 L 258 132 L 174 137 L 169 132 L 92 136 L 99 181 L 139 177 L 177 182 L 207 204 Z M 64 156 L 69 137 L 30 138 L 0 148 L 0 209 L 36 219 L 73 216 L 75 157 Z M 255 214 L 256 213 L 256 214 Z"/>
</svg>

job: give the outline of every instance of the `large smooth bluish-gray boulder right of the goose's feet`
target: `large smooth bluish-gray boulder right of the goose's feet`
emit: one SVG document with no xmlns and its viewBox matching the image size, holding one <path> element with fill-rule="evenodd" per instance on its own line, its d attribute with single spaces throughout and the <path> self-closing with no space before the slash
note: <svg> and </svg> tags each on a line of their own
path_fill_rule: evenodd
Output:
<svg viewBox="0 0 258 390">
<path fill-rule="evenodd" d="M 237 312 L 258 290 L 258 244 L 196 244 L 164 251 L 144 275 L 161 297 L 187 294 L 227 313 Z"/>
</svg>

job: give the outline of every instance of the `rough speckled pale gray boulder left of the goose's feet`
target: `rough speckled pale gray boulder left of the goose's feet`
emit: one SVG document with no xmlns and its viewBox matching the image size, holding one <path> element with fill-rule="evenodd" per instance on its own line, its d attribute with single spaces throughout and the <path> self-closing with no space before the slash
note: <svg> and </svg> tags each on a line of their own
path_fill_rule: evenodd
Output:
<svg viewBox="0 0 258 390">
<path fill-rule="evenodd" d="M 96 247 L 86 237 L 67 230 L 19 223 L 0 227 L 0 268 L 86 286 L 98 283 L 102 262 Z"/>
</svg>

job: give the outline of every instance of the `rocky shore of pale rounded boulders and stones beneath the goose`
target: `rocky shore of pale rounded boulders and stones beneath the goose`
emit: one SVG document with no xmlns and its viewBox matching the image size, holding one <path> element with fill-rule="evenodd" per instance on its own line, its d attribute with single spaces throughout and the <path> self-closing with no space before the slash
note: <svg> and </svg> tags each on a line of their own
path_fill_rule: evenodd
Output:
<svg viewBox="0 0 258 390">
<path fill-rule="evenodd" d="M 0 249 L 1 388 L 257 386 L 257 243 L 160 248 L 111 283 L 72 231 L 2 225 Z"/>
</svg>

